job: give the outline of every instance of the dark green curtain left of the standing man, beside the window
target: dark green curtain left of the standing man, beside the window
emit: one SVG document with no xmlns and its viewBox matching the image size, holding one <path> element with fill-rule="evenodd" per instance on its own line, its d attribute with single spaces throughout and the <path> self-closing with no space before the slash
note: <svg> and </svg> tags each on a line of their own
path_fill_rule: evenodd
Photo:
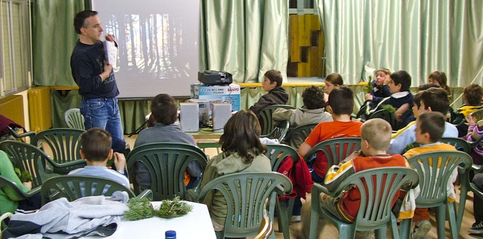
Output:
<svg viewBox="0 0 483 239">
<path fill-rule="evenodd" d="M 90 0 L 33 1 L 33 75 L 39 86 L 77 86 L 70 71 L 70 55 L 78 36 L 74 15 L 90 7 Z"/>
</svg>

